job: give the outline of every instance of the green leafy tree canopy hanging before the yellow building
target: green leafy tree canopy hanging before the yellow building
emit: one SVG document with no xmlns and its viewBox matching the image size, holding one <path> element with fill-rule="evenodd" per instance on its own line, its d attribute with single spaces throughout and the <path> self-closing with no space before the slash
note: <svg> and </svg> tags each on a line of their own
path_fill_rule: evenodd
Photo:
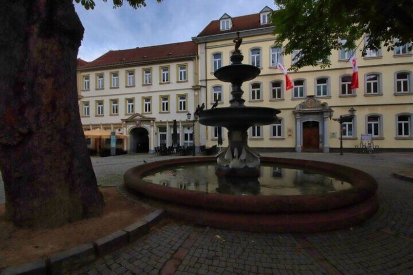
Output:
<svg viewBox="0 0 413 275">
<path fill-rule="evenodd" d="M 283 54 L 300 50 L 290 69 L 303 66 L 321 68 L 330 66 L 332 50 L 379 49 L 387 51 L 394 46 L 413 42 L 412 0 L 275 0 L 278 11 L 271 15 L 276 44 L 282 45 Z M 357 40 L 368 34 L 365 43 Z M 360 47 L 361 46 L 361 47 Z M 356 52 L 357 53 L 357 52 Z"/>
</svg>

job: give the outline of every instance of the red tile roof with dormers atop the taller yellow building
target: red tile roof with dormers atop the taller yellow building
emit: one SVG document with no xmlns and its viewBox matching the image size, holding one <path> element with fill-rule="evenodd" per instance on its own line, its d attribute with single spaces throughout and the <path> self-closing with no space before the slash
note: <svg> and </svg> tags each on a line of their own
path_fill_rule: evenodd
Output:
<svg viewBox="0 0 413 275">
<path fill-rule="evenodd" d="M 233 17 L 232 28 L 226 31 L 220 31 L 220 20 L 211 21 L 197 37 L 204 37 L 216 34 L 225 34 L 230 32 L 244 31 L 250 29 L 258 29 L 268 27 L 270 24 L 261 25 L 260 14 L 250 14 L 239 17 Z"/>
</svg>

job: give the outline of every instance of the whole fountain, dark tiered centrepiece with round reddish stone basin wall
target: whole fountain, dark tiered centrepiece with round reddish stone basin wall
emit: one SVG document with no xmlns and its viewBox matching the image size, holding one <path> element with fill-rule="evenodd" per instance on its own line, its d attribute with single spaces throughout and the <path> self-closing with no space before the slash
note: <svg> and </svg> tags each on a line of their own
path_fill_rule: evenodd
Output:
<svg viewBox="0 0 413 275">
<path fill-rule="evenodd" d="M 135 166 L 124 175 L 125 186 L 131 192 L 143 194 L 160 202 L 170 216 L 200 225 L 234 230 L 261 232 L 319 232 L 344 228 L 372 216 L 378 208 L 377 183 L 370 175 L 343 165 L 299 159 L 260 157 L 247 145 L 247 129 L 278 121 L 280 110 L 246 107 L 242 98 L 242 83 L 261 72 L 252 65 L 242 64 L 239 51 L 242 38 L 234 39 L 231 65 L 218 69 L 214 75 L 232 84 L 229 107 L 203 110 L 198 108 L 199 122 L 228 130 L 228 147 L 215 157 L 176 158 Z M 186 188 L 173 188 L 146 181 L 154 171 L 176 165 L 207 165 L 216 162 L 215 174 L 221 194 Z M 260 194 L 260 165 L 285 165 L 333 175 L 352 188 L 323 194 L 263 196 Z M 226 194 L 229 185 L 248 186 L 250 195 Z"/>
</svg>

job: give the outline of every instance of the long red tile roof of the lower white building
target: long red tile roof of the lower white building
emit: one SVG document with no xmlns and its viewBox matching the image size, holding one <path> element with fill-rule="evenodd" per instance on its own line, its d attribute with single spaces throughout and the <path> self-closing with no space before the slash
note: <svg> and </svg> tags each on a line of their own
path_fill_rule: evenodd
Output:
<svg viewBox="0 0 413 275">
<path fill-rule="evenodd" d="M 90 67 L 100 67 L 116 64 L 128 64 L 136 62 L 146 62 L 162 59 L 171 59 L 198 54 L 198 46 L 193 41 L 134 48 L 127 50 L 109 51 L 96 58 L 92 62 L 87 62 L 80 69 Z"/>
</svg>

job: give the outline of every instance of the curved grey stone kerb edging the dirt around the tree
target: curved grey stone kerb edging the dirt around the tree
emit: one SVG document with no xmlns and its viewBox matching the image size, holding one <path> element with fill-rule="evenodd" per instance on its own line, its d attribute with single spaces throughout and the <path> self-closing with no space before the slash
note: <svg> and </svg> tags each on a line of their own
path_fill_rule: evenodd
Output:
<svg viewBox="0 0 413 275">
<path fill-rule="evenodd" d="M 165 215 L 164 210 L 155 210 L 122 230 L 113 232 L 93 242 L 55 253 L 46 260 L 36 260 L 4 269 L 1 275 L 49 275 L 62 274 L 93 262 L 120 247 L 135 241 L 149 232 Z"/>
</svg>

